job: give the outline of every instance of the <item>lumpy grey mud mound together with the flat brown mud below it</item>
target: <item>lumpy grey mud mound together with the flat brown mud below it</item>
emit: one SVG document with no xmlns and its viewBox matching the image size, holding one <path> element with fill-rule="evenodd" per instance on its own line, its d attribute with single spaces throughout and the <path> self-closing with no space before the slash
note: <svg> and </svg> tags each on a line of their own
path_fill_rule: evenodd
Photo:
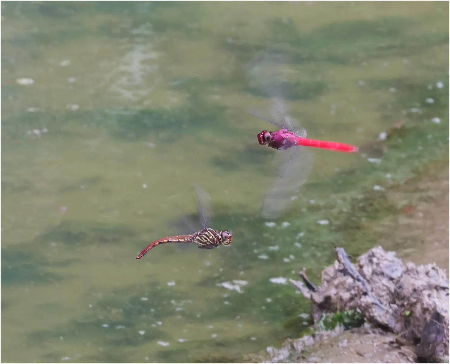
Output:
<svg viewBox="0 0 450 364">
<path fill-rule="evenodd" d="M 449 361 L 446 271 L 435 263 L 403 264 L 395 252 L 381 247 L 370 249 L 355 264 L 344 249 L 335 248 L 335 253 L 337 260 L 322 272 L 320 287 L 308 280 L 304 270 L 300 272 L 302 281 L 291 280 L 311 301 L 316 331 L 288 340 L 280 349 L 269 347 L 253 357 L 254 362 Z M 356 312 L 367 323 L 344 331 L 338 322 L 340 312 Z M 335 328 L 319 330 L 324 322 L 333 320 L 338 320 Z"/>
</svg>

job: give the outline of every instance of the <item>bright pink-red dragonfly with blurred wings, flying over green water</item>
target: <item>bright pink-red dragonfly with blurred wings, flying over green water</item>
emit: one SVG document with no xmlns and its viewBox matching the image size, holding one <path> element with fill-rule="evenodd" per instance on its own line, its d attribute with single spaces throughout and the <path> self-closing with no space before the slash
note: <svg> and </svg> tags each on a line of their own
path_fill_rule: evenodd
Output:
<svg viewBox="0 0 450 364">
<path fill-rule="evenodd" d="M 306 138 L 306 130 L 288 115 L 283 96 L 288 86 L 295 82 L 298 74 L 292 60 L 293 49 L 288 44 L 274 45 L 257 54 L 249 70 L 250 86 L 270 96 L 272 104 L 270 116 L 251 109 L 248 113 L 261 120 L 266 120 L 279 129 L 263 130 L 258 134 L 261 145 L 282 149 L 277 153 L 275 163 L 279 167 L 269 192 L 261 207 L 265 218 L 278 218 L 297 199 L 300 187 L 306 182 L 312 168 L 312 154 L 307 146 L 315 146 L 335 151 L 356 152 L 358 147 L 339 142 L 326 142 Z"/>
</svg>

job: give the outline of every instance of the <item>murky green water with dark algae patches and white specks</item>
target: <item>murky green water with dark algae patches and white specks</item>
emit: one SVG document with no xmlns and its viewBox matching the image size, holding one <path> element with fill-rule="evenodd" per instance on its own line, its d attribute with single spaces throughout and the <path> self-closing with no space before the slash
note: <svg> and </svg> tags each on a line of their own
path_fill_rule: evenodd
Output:
<svg viewBox="0 0 450 364">
<path fill-rule="evenodd" d="M 384 191 L 448 159 L 446 2 L 2 2 L 1 16 L 5 362 L 229 362 L 276 344 L 309 306 L 270 278 L 318 280 L 333 244 L 377 244 L 374 222 L 399 208 Z M 268 226 L 275 151 L 243 110 L 268 106 L 247 71 L 277 43 L 311 138 L 405 126 L 378 162 L 314 151 Z M 232 244 L 136 261 L 195 213 L 195 181 Z"/>
</svg>

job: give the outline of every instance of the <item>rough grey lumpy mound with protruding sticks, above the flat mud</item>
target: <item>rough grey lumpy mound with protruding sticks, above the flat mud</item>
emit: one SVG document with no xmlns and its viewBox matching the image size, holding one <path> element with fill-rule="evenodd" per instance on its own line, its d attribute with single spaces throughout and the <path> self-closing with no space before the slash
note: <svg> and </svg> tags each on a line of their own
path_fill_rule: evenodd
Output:
<svg viewBox="0 0 450 364">
<path fill-rule="evenodd" d="M 353 265 L 343 248 L 322 272 L 322 285 L 290 280 L 311 300 L 317 322 L 322 313 L 359 310 L 367 321 L 402 339 L 418 343 L 416 354 L 428 362 L 448 362 L 449 280 L 436 264 L 405 265 L 395 252 L 370 249 Z"/>
</svg>

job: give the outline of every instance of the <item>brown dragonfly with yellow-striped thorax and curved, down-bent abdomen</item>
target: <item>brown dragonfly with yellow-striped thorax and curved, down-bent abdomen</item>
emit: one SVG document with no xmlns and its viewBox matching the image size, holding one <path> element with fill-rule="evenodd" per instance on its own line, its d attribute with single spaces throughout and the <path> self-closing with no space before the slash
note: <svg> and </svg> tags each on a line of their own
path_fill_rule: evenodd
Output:
<svg viewBox="0 0 450 364">
<path fill-rule="evenodd" d="M 220 244 L 229 245 L 231 243 L 233 234 L 231 234 L 229 231 L 216 231 L 207 227 L 210 225 L 210 198 L 207 192 L 199 186 L 195 186 L 195 191 L 197 192 L 197 202 L 195 204 L 198 214 L 200 215 L 202 229 L 191 235 L 167 236 L 165 238 L 152 241 L 139 253 L 136 259 L 144 257 L 144 255 L 147 254 L 150 249 L 153 249 L 159 244 L 193 243 L 197 244 L 198 248 L 200 249 L 213 249 L 218 247 Z"/>
</svg>

